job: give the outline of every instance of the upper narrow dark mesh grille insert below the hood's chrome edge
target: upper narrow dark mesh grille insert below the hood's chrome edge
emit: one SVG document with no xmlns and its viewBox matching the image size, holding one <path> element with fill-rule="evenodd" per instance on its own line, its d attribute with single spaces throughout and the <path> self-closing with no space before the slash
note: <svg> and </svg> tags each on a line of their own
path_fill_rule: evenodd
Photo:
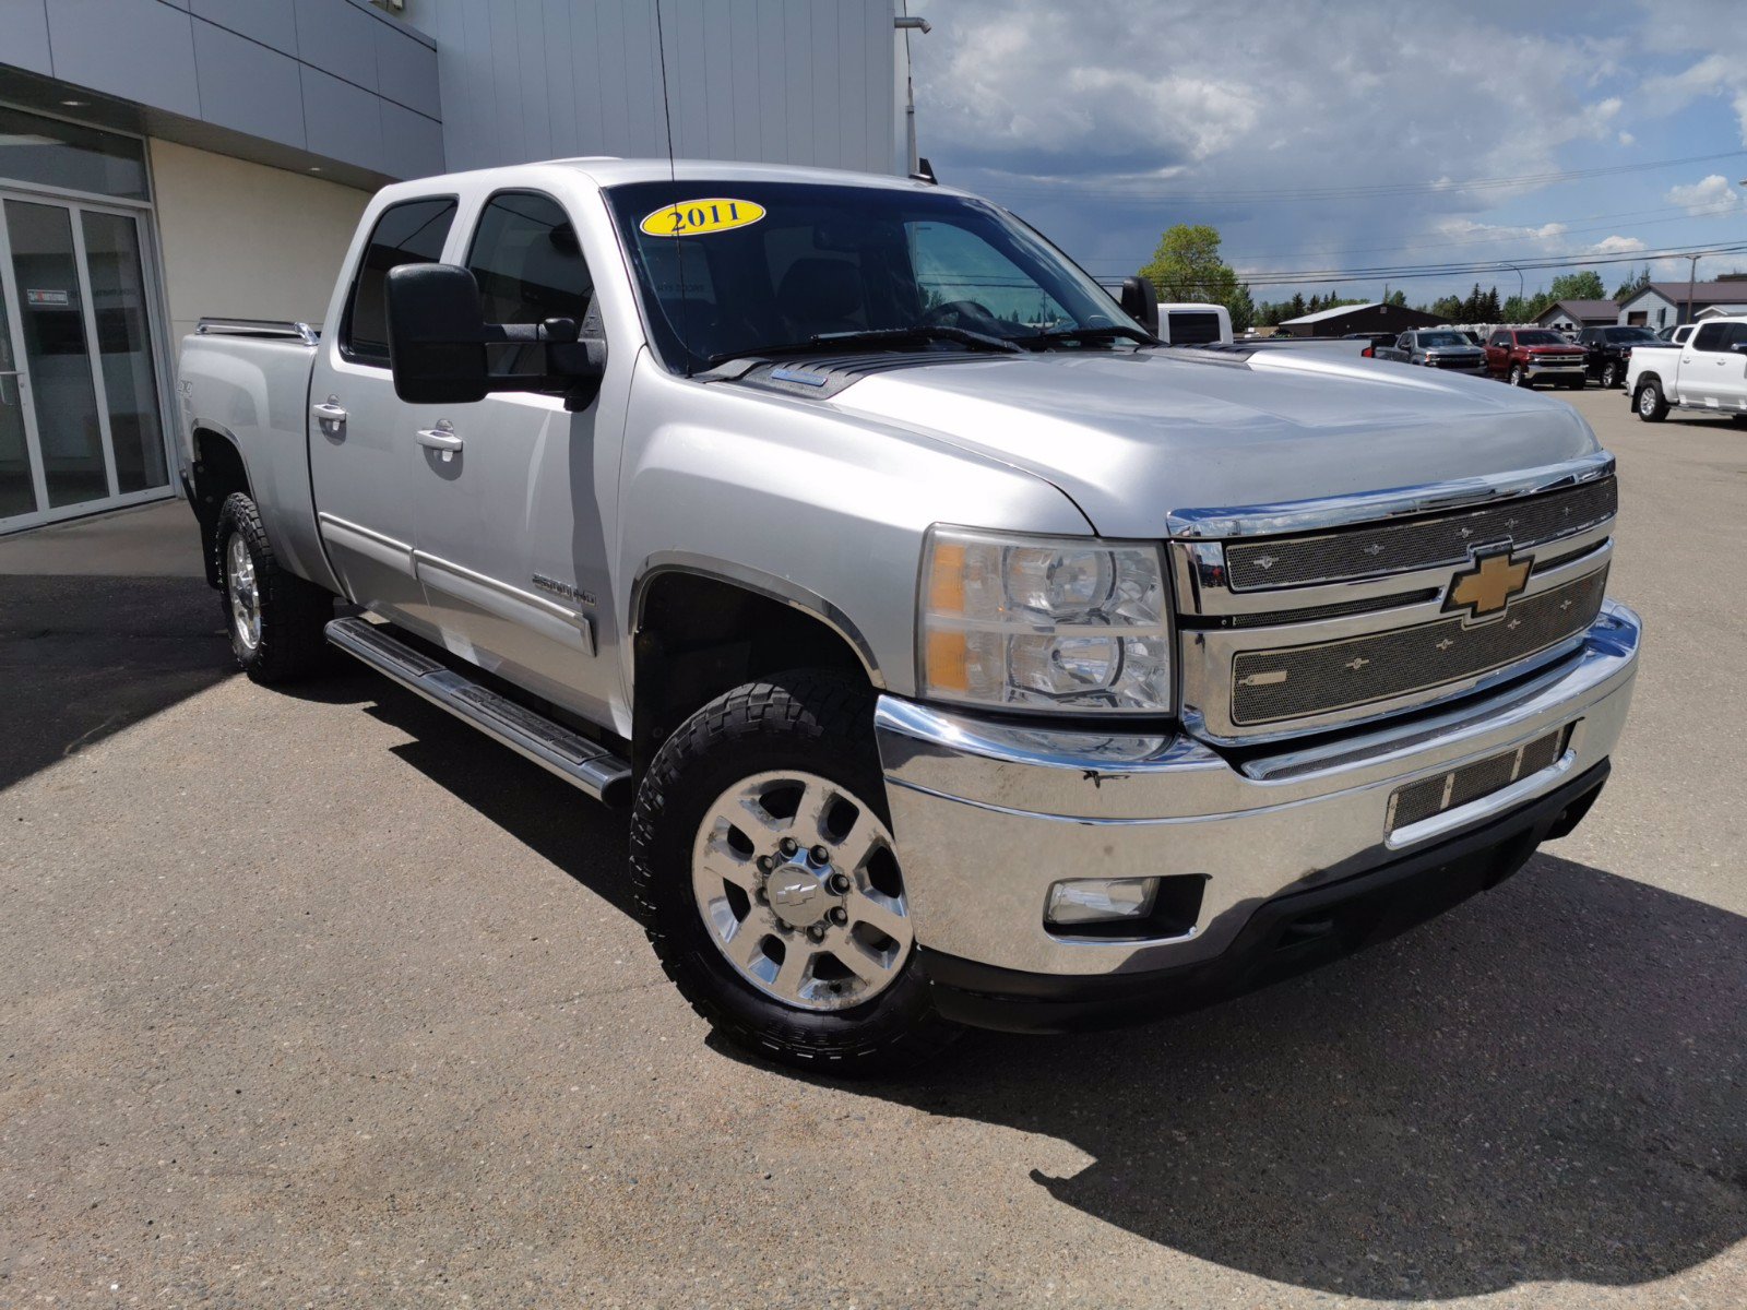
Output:
<svg viewBox="0 0 1747 1310">
<path fill-rule="evenodd" d="M 1225 547 L 1225 571 L 1237 592 L 1378 578 L 1460 564 L 1474 547 L 1494 541 L 1511 541 L 1518 548 L 1553 541 L 1611 519 L 1616 508 L 1618 487 L 1612 477 L 1605 477 L 1481 510 L 1368 524 L 1319 536 L 1232 543 Z"/>
</svg>

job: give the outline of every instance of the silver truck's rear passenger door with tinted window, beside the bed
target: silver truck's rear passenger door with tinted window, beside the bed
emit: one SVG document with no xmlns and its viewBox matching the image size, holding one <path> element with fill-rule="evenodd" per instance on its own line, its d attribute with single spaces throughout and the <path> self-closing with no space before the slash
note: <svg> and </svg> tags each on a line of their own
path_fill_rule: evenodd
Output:
<svg viewBox="0 0 1747 1310">
<path fill-rule="evenodd" d="M 400 264 L 438 262 L 454 215 L 454 196 L 398 201 L 377 215 L 309 386 L 309 475 L 334 571 L 358 604 L 426 632 L 412 566 L 423 475 L 412 433 L 437 414 L 395 395 L 386 281 Z"/>
</svg>

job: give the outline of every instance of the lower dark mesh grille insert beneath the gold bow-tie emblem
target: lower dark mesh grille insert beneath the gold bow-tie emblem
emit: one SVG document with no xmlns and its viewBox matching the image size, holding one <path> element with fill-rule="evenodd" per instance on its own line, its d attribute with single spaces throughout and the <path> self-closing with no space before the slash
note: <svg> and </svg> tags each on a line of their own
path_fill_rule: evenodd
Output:
<svg viewBox="0 0 1747 1310">
<path fill-rule="evenodd" d="M 1497 618 L 1417 624 L 1310 646 L 1240 652 L 1232 723 L 1258 727 L 1478 678 L 1567 641 L 1595 622 L 1607 568 L 1515 601 Z"/>
</svg>

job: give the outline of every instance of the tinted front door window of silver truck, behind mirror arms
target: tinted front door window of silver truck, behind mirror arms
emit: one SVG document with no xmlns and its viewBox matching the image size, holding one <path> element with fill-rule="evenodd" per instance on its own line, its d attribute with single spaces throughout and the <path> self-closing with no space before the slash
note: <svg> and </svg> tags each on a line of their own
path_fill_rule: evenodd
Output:
<svg viewBox="0 0 1747 1310">
<path fill-rule="evenodd" d="M 570 215 L 550 196 L 505 192 L 479 215 L 466 267 L 479 283 L 487 323 L 540 323 L 571 318 L 578 327 L 594 307 L 594 278 Z M 494 374 L 538 372 L 545 348 L 487 348 Z"/>
</svg>

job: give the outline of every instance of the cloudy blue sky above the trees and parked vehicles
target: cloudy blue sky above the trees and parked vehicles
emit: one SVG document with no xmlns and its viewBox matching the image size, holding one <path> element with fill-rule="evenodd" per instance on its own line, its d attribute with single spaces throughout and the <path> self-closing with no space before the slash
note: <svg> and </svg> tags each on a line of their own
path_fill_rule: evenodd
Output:
<svg viewBox="0 0 1747 1310">
<path fill-rule="evenodd" d="M 1560 269 L 1504 264 L 1567 255 L 1612 292 L 1595 259 L 1747 248 L 1747 0 L 907 3 L 921 154 L 1101 279 L 1179 222 L 1258 300 L 1532 293 Z M 1426 264 L 1497 267 L 1268 281 Z"/>
</svg>

